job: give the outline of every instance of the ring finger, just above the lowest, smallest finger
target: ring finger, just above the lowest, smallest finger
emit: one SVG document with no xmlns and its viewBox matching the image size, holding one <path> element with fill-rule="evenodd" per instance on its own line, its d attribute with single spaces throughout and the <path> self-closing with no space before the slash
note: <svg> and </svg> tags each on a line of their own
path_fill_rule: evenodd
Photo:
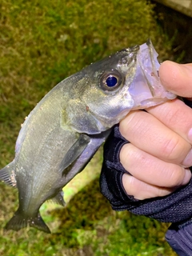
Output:
<svg viewBox="0 0 192 256">
<path fill-rule="evenodd" d="M 138 180 L 160 187 L 178 187 L 186 185 L 191 178 L 190 170 L 139 150 L 127 143 L 120 151 L 122 166 Z"/>
</svg>

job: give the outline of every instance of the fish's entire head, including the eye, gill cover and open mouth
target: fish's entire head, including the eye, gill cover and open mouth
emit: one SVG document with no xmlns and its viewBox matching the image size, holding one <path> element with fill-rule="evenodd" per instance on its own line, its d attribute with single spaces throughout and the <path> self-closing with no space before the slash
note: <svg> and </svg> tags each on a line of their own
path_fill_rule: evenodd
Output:
<svg viewBox="0 0 192 256">
<path fill-rule="evenodd" d="M 97 129 L 108 130 L 130 110 L 146 109 L 175 98 L 160 82 L 157 57 L 149 40 L 84 68 L 81 102 L 86 116 L 92 118 L 94 129 L 91 122 L 84 122 L 84 130 L 82 126 L 77 130 L 90 134 Z"/>
</svg>

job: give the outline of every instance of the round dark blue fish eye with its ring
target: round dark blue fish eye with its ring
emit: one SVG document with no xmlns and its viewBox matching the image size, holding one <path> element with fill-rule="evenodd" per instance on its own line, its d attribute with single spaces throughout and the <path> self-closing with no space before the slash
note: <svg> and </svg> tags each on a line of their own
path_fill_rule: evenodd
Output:
<svg viewBox="0 0 192 256">
<path fill-rule="evenodd" d="M 122 84 L 122 75 L 118 70 L 113 70 L 102 74 L 101 87 L 102 90 L 116 90 Z"/>
</svg>

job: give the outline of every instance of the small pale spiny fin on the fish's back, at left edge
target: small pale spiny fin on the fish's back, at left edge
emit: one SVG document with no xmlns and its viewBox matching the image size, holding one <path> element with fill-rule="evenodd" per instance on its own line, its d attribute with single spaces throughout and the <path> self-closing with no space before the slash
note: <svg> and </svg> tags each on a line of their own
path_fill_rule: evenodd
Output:
<svg viewBox="0 0 192 256">
<path fill-rule="evenodd" d="M 14 173 L 14 161 L 10 162 L 7 166 L 0 170 L 0 180 L 6 182 L 10 186 L 17 186 L 17 181 Z"/>
</svg>

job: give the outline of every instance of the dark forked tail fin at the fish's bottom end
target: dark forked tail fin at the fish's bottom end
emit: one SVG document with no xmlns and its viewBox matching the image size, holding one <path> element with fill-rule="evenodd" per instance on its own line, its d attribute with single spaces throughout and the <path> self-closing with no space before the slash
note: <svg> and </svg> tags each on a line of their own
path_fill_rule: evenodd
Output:
<svg viewBox="0 0 192 256">
<path fill-rule="evenodd" d="M 50 233 L 49 227 L 46 226 L 46 223 L 43 221 L 39 213 L 33 218 L 23 216 L 18 210 L 14 214 L 14 217 L 6 224 L 6 229 L 18 231 L 26 226 L 31 226 L 43 232 Z"/>
</svg>

